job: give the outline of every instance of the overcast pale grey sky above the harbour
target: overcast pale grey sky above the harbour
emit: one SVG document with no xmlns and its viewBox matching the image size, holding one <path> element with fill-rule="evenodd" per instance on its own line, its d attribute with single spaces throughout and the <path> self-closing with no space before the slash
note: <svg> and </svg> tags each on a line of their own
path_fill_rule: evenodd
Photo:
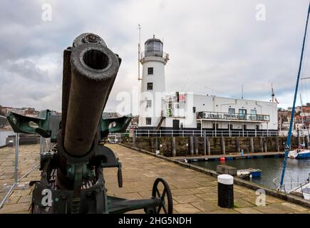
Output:
<svg viewBox="0 0 310 228">
<path fill-rule="evenodd" d="M 44 21 L 50 4 L 51 21 Z M 266 20 L 257 21 L 257 4 Z M 279 107 L 293 100 L 309 0 L 124 0 L 1 1 L 0 105 L 61 110 L 63 49 L 80 33 L 101 36 L 118 53 L 120 66 L 105 110 L 116 95 L 139 86 L 138 24 L 141 41 L 155 34 L 170 54 L 167 91 L 193 91 L 270 100 L 274 85 Z M 144 49 L 144 47 L 143 47 Z M 301 76 L 310 76 L 306 48 Z M 302 83 L 310 102 L 310 79 Z M 299 101 L 300 103 L 300 101 Z"/>
</svg>

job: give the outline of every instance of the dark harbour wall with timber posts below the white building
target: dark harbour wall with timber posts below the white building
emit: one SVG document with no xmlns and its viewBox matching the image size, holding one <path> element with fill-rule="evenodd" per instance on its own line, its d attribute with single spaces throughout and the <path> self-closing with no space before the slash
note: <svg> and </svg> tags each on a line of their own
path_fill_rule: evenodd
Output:
<svg viewBox="0 0 310 228">
<path fill-rule="evenodd" d="M 160 151 L 161 155 L 226 155 L 241 152 L 279 152 L 284 151 L 286 137 L 123 137 L 125 145 L 131 145 L 150 152 Z M 291 138 L 291 148 L 307 138 Z M 174 146 L 175 145 L 175 146 Z"/>
</svg>

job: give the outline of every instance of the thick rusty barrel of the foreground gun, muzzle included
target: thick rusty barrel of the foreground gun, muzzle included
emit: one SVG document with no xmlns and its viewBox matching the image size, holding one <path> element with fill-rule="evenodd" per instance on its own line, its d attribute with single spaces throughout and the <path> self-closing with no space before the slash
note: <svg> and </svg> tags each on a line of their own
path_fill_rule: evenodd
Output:
<svg viewBox="0 0 310 228">
<path fill-rule="evenodd" d="M 102 38 L 83 33 L 71 48 L 71 82 L 63 145 L 81 157 L 91 150 L 95 132 L 120 66 Z"/>
</svg>

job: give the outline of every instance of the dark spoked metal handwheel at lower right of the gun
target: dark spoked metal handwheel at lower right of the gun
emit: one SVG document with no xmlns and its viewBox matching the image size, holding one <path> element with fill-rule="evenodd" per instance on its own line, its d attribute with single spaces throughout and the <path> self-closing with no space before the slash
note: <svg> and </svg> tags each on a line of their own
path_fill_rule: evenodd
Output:
<svg viewBox="0 0 310 228">
<path fill-rule="evenodd" d="M 159 184 L 162 183 L 163 190 L 159 190 Z M 162 193 L 160 193 L 162 191 Z M 172 214 L 173 204 L 172 204 L 172 195 L 168 183 L 162 178 L 157 178 L 153 185 L 152 197 L 162 199 L 162 204 L 155 207 L 155 214 L 160 214 L 161 209 L 165 214 Z M 166 200 L 167 199 L 167 200 Z"/>
</svg>

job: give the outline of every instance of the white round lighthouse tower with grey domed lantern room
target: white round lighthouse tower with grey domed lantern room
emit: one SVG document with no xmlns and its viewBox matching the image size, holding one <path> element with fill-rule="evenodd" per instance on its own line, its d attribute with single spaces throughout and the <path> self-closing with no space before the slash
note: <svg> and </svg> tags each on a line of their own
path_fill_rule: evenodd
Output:
<svg viewBox="0 0 310 228">
<path fill-rule="evenodd" d="M 157 127 L 162 117 L 162 98 L 165 93 L 165 65 L 169 55 L 162 51 L 160 39 L 149 38 L 145 41 L 145 51 L 141 53 L 140 63 L 143 66 L 139 127 Z"/>
</svg>

